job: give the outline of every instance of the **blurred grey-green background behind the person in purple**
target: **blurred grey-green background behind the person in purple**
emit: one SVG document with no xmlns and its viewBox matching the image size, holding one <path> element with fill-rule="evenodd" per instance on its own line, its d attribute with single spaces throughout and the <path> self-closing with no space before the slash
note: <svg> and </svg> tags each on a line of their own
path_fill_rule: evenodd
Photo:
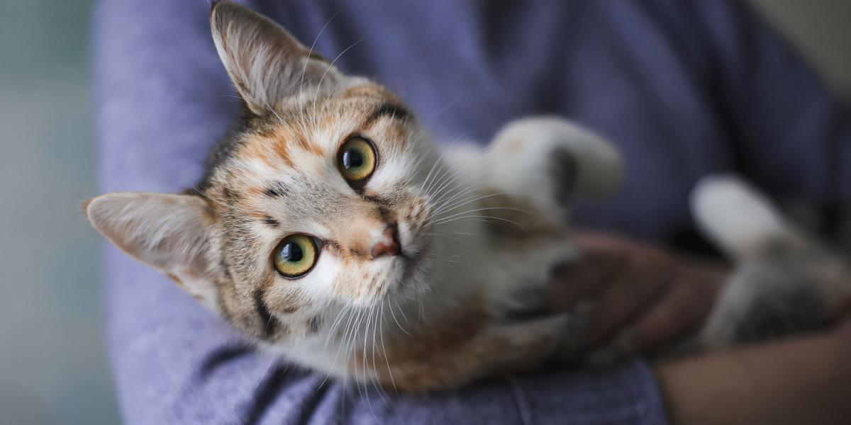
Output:
<svg viewBox="0 0 851 425">
<path fill-rule="evenodd" d="M 851 2 L 751 3 L 851 104 Z M 0 0 L 3 424 L 120 422 L 103 342 L 100 239 L 80 207 L 97 194 L 93 7 Z"/>
</svg>

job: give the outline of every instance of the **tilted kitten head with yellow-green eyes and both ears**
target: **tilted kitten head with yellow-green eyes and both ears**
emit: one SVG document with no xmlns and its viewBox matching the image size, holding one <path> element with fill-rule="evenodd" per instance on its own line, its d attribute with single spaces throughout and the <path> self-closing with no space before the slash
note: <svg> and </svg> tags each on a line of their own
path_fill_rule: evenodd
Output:
<svg viewBox="0 0 851 425">
<path fill-rule="evenodd" d="M 94 228 L 265 339 L 423 290 L 437 159 L 402 101 L 236 3 L 215 3 L 211 26 L 243 126 L 196 193 L 101 195 Z"/>
</svg>

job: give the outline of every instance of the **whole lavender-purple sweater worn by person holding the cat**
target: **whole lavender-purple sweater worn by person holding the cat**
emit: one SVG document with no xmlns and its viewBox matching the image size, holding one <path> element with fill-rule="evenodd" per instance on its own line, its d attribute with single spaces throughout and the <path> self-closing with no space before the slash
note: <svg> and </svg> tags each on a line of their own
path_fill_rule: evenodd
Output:
<svg viewBox="0 0 851 425">
<path fill-rule="evenodd" d="M 732 0 L 249 3 L 345 71 L 397 90 L 443 139 L 513 117 L 584 122 L 629 177 L 581 224 L 665 241 L 700 175 L 737 169 L 779 195 L 851 199 L 851 132 L 807 68 Z M 237 101 L 206 0 L 102 0 L 95 53 L 101 187 L 195 183 Z M 554 371 L 382 399 L 255 354 L 171 281 L 108 248 L 108 337 L 129 423 L 662 423 L 647 365 Z"/>
</svg>

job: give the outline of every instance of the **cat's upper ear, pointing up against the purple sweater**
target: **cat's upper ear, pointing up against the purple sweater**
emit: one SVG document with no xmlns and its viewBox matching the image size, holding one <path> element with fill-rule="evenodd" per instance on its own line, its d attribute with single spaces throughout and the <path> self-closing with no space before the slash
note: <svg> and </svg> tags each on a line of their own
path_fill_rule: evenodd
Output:
<svg viewBox="0 0 851 425">
<path fill-rule="evenodd" d="M 345 78 L 282 26 L 237 3 L 214 3 L 210 28 L 227 73 L 254 114 L 265 115 L 301 90 L 312 96 L 320 84 L 334 88 Z"/>
</svg>

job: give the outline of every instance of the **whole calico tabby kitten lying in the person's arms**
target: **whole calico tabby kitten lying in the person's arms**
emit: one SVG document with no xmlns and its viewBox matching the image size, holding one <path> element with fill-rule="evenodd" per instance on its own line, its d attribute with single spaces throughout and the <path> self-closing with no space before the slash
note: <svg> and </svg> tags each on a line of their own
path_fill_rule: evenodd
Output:
<svg viewBox="0 0 851 425">
<path fill-rule="evenodd" d="M 532 117 L 508 123 L 487 150 L 439 153 L 397 95 L 345 75 L 266 17 L 221 1 L 210 23 L 243 100 L 239 127 L 183 194 L 87 201 L 94 229 L 259 348 L 330 376 L 417 393 L 581 360 L 587 306 L 545 312 L 546 284 L 555 264 L 580 259 L 574 199 L 620 187 L 612 144 Z M 727 221 L 750 213 L 716 211 L 728 201 L 775 218 L 738 182 L 696 193 L 701 223 L 742 263 L 762 252 L 758 230 L 780 246 L 805 239 L 779 219 L 730 235 L 741 225 Z M 747 269 L 700 334 L 706 347 L 748 339 L 762 320 L 743 319 L 751 312 L 774 320 L 776 309 L 753 305 L 765 288 L 741 289 L 751 287 Z M 795 287 L 814 298 L 804 327 L 823 326 L 826 289 Z"/>
</svg>

